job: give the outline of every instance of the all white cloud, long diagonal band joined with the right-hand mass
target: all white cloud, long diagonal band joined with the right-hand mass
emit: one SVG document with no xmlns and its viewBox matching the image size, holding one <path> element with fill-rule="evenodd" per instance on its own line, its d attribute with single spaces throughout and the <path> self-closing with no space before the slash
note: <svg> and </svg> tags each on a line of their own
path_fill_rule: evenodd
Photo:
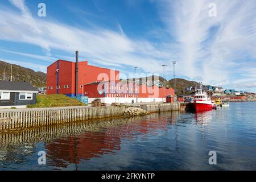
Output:
<svg viewBox="0 0 256 182">
<path fill-rule="evenodd" d="M 208 5 L 212 3 L 209 0 L 155 1 L 170 32 L 167 37 L 163 30 L 164 41 L 157 43 L 139 36 L 127 36 L 129 34 L 120 24 L 117 24 L 118 30 L 113 31 L 46 21 L 32 17 L 24 1 L 10 2 L 20 13 L 0 10 L 0 39 L 40 46 L 48 57 L 53 49 L 67 55 L 79 50 L 80 55 L 98 64 L 137 66 L 151 73 L 162 73 L 162 63 L 167 63 L 168 73 L 172 73 L 171 60 L 177 60 L 177 75 L 191 80 L 202 76 L 205 84 L 236 88 L 243 84 L 244 88 L 249 88 L 252 87 L 248 86 L 250 82 L 256 82 L 256 66 L 248 64 L 248 59 L 255 61 L 256 58 L 256 5 L 253 0 L 215 0 L 216 17 L 208 15 Z M 155 29 L 149 31 L 155 32 Z M 155 34 L 161 38 L 161 31 Z"/>
</svg>

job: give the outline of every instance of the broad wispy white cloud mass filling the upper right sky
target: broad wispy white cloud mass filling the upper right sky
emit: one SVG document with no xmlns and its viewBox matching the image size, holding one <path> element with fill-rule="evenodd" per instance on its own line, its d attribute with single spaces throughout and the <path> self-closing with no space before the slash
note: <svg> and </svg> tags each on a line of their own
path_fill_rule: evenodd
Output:
<svg viewBox="0 0 256 182">
<path fill-rule="evenodd" d="M 246 59 L 256 56 L 254 1 L 213 1 L 217 5 L 216 17 L 208 15 L 212 1 L 164 2 L 169 6 L 162 7 L 166 10 L 163 17 L 170 17 L 164 22 L 179 50 L 177 72 L 191 78 L 200 75 L 204 82 L 221 81 L 224 85 L 234 85 L 244 72 L 249 72 Z M 241 64 L 245 69 L 240 69 Z M 243 77 L 243 81 L 247 79 L 256 81 L 256 77 Z"/>
</svg>

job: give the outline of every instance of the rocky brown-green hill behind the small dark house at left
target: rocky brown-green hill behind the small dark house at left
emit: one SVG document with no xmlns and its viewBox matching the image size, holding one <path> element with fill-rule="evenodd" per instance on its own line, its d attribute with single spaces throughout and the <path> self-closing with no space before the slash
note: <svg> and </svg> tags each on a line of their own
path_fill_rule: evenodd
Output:
<svg viewBox="0 0 256 182">
<path fill-rule="evenodd" d="M 13 81 L 28 81 L 34 86 L 46 86 L 46 73 L 35 72 L 32 69 L 13 65 Z M 3 72 L 6 73 L 6 80 L 11 77 L 11 64 L 0 61 L 0 80 L 3 80 Z"/>
</svg>

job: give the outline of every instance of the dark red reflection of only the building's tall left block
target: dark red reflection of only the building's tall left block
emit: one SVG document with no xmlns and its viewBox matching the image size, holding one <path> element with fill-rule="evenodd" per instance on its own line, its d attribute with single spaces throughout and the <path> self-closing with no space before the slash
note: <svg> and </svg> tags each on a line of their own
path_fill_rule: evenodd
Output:
<svg viewBox="0 0 256 182">
<path fill-rule="evenodd" d="M 48 144 L 46 149 L 55 166 L 67 167 L 69 163 L 79 164 L 81 159 L 97 158 L 105 152 L 114 154 L 114 150 L 120 150 L 120 144 L 119 136 L 85 133 L 79 138 L 58 139 L 55 143 Z"/>
</svg>

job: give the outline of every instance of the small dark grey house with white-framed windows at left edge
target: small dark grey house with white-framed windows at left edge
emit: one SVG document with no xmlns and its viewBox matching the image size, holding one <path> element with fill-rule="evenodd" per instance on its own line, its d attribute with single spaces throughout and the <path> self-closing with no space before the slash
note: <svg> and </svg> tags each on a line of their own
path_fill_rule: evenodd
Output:
<svg viewBox="0 0 256 182">
<path fill-rule="evenodd" d="M 29 82 L 0 80 L 0 109 L 36 104 L 38 90 Z"/>
</svg>

